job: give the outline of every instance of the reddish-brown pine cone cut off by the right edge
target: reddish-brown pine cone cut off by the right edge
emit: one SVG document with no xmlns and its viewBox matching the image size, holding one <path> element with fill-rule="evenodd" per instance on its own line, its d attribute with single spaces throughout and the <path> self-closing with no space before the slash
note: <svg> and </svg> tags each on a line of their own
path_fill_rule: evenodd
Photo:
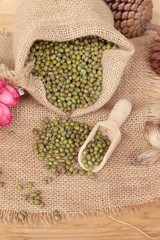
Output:
<svg viewBox="0 0 160 240">
<path fill-rule="evenodd" d="M 150 62 L 153 70 L 160 75 L 160 36 L 154 39 Z"/>
</svg>

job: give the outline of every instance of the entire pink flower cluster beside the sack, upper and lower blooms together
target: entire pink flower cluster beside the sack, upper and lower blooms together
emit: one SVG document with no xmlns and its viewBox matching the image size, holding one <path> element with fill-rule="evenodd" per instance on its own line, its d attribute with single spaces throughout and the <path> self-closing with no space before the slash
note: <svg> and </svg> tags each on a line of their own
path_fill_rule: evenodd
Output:
<svg viewBox="0 0 160 240">
<path fill-rule="evenodd" d="M 8 107 L 15 107 L 19 103 L 20 94 L 16 88 L 0 78 L 0 126 L 7 126 L 12 121 L 12 112 Z"/>
</svg>

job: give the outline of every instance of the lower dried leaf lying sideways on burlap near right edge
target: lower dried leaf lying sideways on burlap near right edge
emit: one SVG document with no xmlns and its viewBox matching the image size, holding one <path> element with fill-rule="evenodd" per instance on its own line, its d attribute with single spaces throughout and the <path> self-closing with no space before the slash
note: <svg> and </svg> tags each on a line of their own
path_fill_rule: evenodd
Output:
<svg viewBox="0 0 160 240">
<path fill-rule="evenodd" d="M 138 165 L 151 165 L 157 162 L 157 160 L 160 158 L 160 151 L 156 149 L 149 149 L 139 155 L 133 162 L 132 165 L 138 166 Z"/>
</svg>

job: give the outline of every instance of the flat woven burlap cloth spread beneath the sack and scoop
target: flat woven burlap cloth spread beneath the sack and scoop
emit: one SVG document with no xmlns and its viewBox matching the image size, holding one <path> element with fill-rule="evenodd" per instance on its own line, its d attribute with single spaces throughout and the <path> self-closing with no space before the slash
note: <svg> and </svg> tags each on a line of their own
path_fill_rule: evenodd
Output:
<svg viewBox="0 0 160 240">
<path fill-rule="evenodd" d="M 102 214 L 135 209 L 160 199 L 159 162 L 148 167 L 131 165 L 136 154 L 148 147 L 143 128 L 147 116 L 154 116 L 154 110 L 149 106 L 151 101 L 147 92 L 154 83 L 159 84 L 160 81 L 148 63 L 152 39 L 153 36 L 147 34 L 133 40 L 136 53 L 109 103 L 93 114 L 74 118 L 94 125 L 97 121 L 107 119 L 118 99 L 127 98 L 133 104 L 131 116 L 121 128 L 122 141 L 96 180 L 60 176 L 55 177 L 50 185 L 42 186 L 39 183 L 40 179 L 50 176 L 50 173 L 43 170 L 43 164 L 32 153 L 32 129 L 39 127 L 44 117 L 53 119 L 55 115 L 29 95 L 22 97 L 20 105 L 13 110 L 12 125 L 0 129 L 0 166 L 3 169 L 2 178 L 6 182 L 5 188 L 0 190 L 0 221 L 18 221 L 17 211 L 26 210 L 26 222 L 52 223 L 51 213 L 54 209 L 60 210 L 66 217 Z M 12 67 L 8 51 L 11 51 L 11 36 L 0 35 L 0 62 Z M 11 130 L 15 132 L 14 136 L 8 135 Z M 33 181 L 36 189 L 42 190 L 46 203 L 43 210 L 21 200 L 16 184 L 28 181 Z"/>
</svg>

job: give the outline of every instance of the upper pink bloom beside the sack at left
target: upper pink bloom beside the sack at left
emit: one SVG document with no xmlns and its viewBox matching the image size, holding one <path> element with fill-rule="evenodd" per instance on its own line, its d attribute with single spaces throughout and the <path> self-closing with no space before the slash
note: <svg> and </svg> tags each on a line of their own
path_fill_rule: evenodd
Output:
<svg viewBox="0 0 160 240">
<path fill-rule="evenodd" d="M 6 84 L 3 79 L 0 79 L 0 102 L 8 107 L 15 107 L 19 103 L 20 94 L 16 88 Z"/>
</svg>

